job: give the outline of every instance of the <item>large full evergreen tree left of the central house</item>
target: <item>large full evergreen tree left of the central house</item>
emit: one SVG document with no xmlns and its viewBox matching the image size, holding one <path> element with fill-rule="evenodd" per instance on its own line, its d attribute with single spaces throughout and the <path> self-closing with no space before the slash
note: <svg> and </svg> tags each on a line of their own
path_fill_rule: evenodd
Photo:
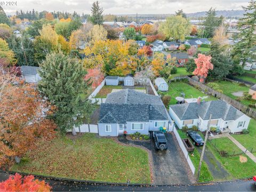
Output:
<svg viewBox="0 0 256 192">
<path fill-rule="evenodd" d="M 81 99 L 87 90 L 82 63 L 60 52 L 47 55 L 40 67 L 38 89 L 57 107 L 53 118 L 61 132 L 81 125 L 94 110 L 90 100 Z"/>
</svg>

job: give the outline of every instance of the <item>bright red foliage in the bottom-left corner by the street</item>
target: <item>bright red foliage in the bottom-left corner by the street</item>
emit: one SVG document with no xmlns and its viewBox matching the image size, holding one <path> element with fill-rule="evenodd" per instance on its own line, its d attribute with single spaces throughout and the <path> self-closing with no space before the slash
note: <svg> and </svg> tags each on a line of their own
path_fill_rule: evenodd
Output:
<svg viewBox="0 0 256 192">
<path fill-rule="evenodd" d="M 52 187 L 45 181 L 35 179 L 33 175 L 21 177 L 16 173 L 9 179 L 0 182 L 0 191 L 51 191 Z"/>
</svg>

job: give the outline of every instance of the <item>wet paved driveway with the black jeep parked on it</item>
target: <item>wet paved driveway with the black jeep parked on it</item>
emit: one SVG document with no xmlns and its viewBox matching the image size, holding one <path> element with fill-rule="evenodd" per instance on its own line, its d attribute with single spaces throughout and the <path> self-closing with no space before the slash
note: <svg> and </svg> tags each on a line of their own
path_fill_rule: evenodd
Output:
<svg viewBox="0 0 256 192">
<path fill-rule="evenodd" d="M 166 134 L 168 142 L 167 150 L 155 150 L 154 141 L 151 140 L 151 153 L 153 155 L 153 174 L 155 185 L 166 184 L 189 184 L 188 173 L 180 158 L 180 154 L 175 146 L 173 135 Z"/>
</svg>

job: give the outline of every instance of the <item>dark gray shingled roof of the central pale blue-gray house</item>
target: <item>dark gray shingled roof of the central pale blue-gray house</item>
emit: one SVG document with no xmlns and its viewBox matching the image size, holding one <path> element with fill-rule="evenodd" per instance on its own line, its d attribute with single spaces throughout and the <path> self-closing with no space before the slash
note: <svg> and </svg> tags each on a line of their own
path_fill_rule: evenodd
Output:
<svg viewBox="0 0 256 192">
<path fill-rule="evenodd" d="M 99 123 L 148 122 L 167 120 L 165 107 L 158 96 L 125 89 L 110 93 L 100 105 Z"/>
</svg>

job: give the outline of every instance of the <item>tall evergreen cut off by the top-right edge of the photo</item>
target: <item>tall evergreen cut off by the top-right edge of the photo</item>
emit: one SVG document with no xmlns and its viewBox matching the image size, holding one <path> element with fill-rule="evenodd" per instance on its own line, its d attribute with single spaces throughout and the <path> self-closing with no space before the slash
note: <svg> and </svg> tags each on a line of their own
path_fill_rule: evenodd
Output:
<svg viewBox="0 0 256 192">
<path fill-rule="evenodd" d="M 235 44 L 232 50 L 232 57 L 236 63 L 256 60 L 253 47 L 256 45 L 256 1 L 251 1 L 247 7 L 243 7 L 244 17 L 238 22 L 237 35 L 238 43 Z"/>
</svg>

